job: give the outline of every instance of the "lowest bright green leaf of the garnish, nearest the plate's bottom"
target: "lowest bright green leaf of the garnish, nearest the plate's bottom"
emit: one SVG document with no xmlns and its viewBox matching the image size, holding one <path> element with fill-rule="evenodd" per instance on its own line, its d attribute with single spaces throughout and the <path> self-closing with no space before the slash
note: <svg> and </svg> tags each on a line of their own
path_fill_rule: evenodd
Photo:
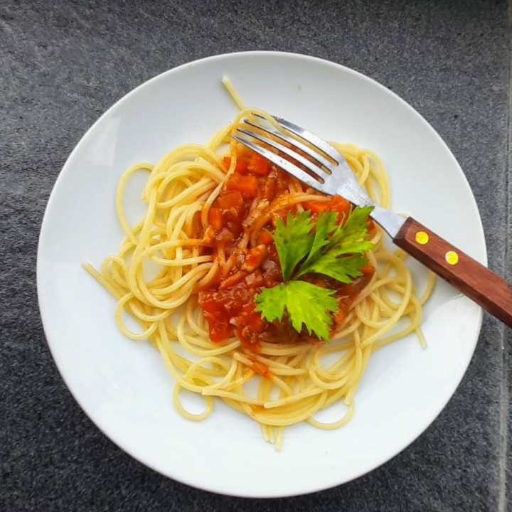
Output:
<svg viewBox="0 0 512 512">
<path fill-rule="evenodd" d="M 306 281 L 290 281 L 272 288 L 262 289 L 255 297 L 258 305 L 255 311 L 261 311 L 268 321 L 282 321 L 286 309 L 289 321 L 297 332 L 302 324 L 320 339 L 329 339 L 329 325 L 332 322 L 328 311 L 336 311 L 338 303 L 331 297 L 335 290 L 321 288 Z"/>
</svg>

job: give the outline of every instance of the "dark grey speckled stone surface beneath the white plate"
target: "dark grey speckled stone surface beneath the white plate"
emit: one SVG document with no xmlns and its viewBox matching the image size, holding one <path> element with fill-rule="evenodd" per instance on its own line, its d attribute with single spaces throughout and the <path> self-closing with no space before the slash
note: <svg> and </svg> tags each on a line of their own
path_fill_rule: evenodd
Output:
<svg viewBox="0 0 512 512">
<path fill-rule="evenodd" d="M 512 434 L 512 389 L 506 380 L 512 336 L 489 315 L 454 398 L 402 454 L 345 486 L 256 501 L 183 486 L 114 447 L 58 375 L 41 328 L 35 284 L 48 195 L 90 124 L 164 70 L 252 49 L 291 50 L 343 63 L 410 102 L 457 156 L 479 203 L 489 265 L 511 279 L 506 1 L 137 4 L 0 3 L 0 510 L 512 509 L 506 497 L 512 484 L 510 447 L 506 452 Z"/>
</svg>

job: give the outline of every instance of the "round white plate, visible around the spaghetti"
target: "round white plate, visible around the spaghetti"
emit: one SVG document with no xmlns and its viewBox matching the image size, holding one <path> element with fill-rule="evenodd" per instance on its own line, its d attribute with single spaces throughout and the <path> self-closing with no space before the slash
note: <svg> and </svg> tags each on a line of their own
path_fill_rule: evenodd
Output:
<svg viewBox="0 0 512 512">
<path fill-rule="evenodd" d="M 224 75 L 247 105 L 327 139 L 375 150 L 388 168 L 393 208 L 486 263 L 471 189 L 452 153 L 415 110 L 341 65 L 289 53 L 235 53 L 182 65 L 137 87 L 76 146 L 41 228 L 41 316 L 65 383 L 92 421 L 132 457 L 218 493 L 306 494 L 383 464 L 430 425 L 469 364 L 481 309 L 439 282 L 425 307 L 428 348 L 410 336 L 375 353 L 351 422 L 334 431 L 291 427 L 280 453 L 262 440 L 255 422 L 223 403 L 208 420 L 183 420 L 171 404 L 173 382 L 159 354 L 149 343 L 119 334 L 114 300 L 81 264 L 100 265 L 119 244 L 114 192 L 127 166 L 155 162 L 178 144 L 206 142 L 233 119 L 237 109 L 221 85 Z M 140 208 L 134 200 L 134 213 Z"/>
</svg>

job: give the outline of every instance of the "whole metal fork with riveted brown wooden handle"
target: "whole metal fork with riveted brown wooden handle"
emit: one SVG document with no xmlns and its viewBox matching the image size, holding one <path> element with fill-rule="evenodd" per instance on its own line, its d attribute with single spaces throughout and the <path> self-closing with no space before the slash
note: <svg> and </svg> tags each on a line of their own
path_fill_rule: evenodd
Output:
<svg viewBox="0 0 512 512">
<path fill-rule="evenodd" d="M 233 138 L 319 192 L 338 194 L 356 206 L 373 206 L 370 217 L 395 245 L 512 327 L 511 284 L 412 217 L 372 201 L 343 155 L 324 139 L 285 119 L 273 117 L 279 129 L 263 124 L 264 119 L 259 114 L 243 119 Z"/>
</svg>

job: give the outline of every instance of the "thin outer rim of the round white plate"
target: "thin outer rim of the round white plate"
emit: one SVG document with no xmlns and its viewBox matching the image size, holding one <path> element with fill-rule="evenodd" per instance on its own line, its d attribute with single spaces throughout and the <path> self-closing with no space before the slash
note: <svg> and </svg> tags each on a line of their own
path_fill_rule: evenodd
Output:
<svg viewBox="0 0 512 512">
<path fill-rule="evenodd" d="M 481 219 L 481 215 L 480 215 L 478 204 L 476 203 L 476 198 L 475 198 L 474 193 L 473 193 L 473 191 L 471 189 L 471 186 L 469 185 L 469 181 L 466 178 L 466 174 L 464 174 L 464 171 L 462 170 L 461 166 L 459 165 L 459 162 L 455 158 L 454 154 L 452 153 L 452 150 L 449 148 L 447 143 L 444 142 L 444 139 L 442 139 L 442 137 L 437 133 L 437 131 L 434 129 L 434 127 L 432 127 L 432 125 L 429 122 L 427 122 L 425 117 L 423 117 L 422 114 L 420 114 L 420 112 L 417 112 L 417 110 L 415 110 L 414 107 L 412 107 L 409 103 L 407 103 L 405 100 L 403 100 L 393 90 L 389 90 L 388 87 L 385 87 L 384 85 L 380 84 L 380 82 L 376 81 L 373 78 L 370 78 L 368 75 L 365 75 L 365 74 L 363 74 L 363 73 L 361 73 L 361 72 L 359 72 L 357 70 L 354 70 L 352 68 L 348 68 L 346 65 L 343 65 L 341 63 L 337 63 L 337 62 L 334 62 L 334 61 L 331 61 L 331 60 L 327 60 L 327 59 L 324 59 L 324 58 L 315 57 L 313 55 L 305 55 L 305 54 L 302 54 L 302 53 L 295 53 L 295 52 L 282 52 L 282 51 L 274 51 L 274 50 L 235 51 L 235 52 L 228 52 L 228 53 L 220 53 L 220 54 L 216 54 L 216 55 L 210 55 L 210 56 L 207 56 L 207 57 L 204 57 L 204 58 L 200 58 L 200 59 L 196 59 L 196 60 L 191 60 L 190 62 L 186 62 L 186 63 L 178 65 L 178 66 L 176 66 L 174 68 L 170 68 L 169 70 L 166 70 L 163 73 L 159 73 L 158 75 L 155 75 L 154 77 L 150 78 L 149 80 L 146 80 L 146 81 L 142 82 L 141 84 L 137 85 L 137 87 L 134 87 L 134 89 L 132 89 L 129 92 L 127 92 L 127 94 L 125 94 L 122 97 L 120 97 L 119 100 L 114 102 L 82 134 L 82 136 L 80 137 L 78 142 L 76 142 L 75 146 L 73 147 L 73 150 L 68 155 L 68 158 L 65 160 L 65 163 L 63 164 L 62 169 L 60 169 L 60 171 L 58 173 L 58 176 L 57 176 L 55 182 L 53 183 L 53 187 L 52 187 L 52 190 L 50 192 L 50 196 L 48 197 L 48 202 L 46 204 L 46 208 L 45 208 L 45 211 L 44 211 L 44 214 L 43 214 L 43 220 L 41 222 L 41 228 L 40 228 L 40 233 L 39 233 L 39 237 L 38 237 L 37 258 L 36 258 L 36 283 L 37 283 L 38 307 L 39 307 L 39 312 L 40 312 L 40 316 L 41 316 L 41 322 L 43 324 L 43 331 L 44 331 L 44 334 L 45 334 L 46 344 L 47 344 L 47 346 L 48 346 L 48 348 L 50 350 L 50 354 L 51 354 L 51 356 L 53 358 L 53 361 L 55 362 L 55 366 L 57 366 L 58 373 L 60 374 L 60 377 L 63 379 L 66 388 L 68 388 L 68 390 L 71 393 L 71 395 L 73 396 L 75 402 L 78 403 L 78 405 L 80 406 L 82 411 L 85 412 L 85 415 L 87 415 L 87 417 L 89 418 L 90 421 L 92 421 L 92 423 L 95 425 L 95 427 L 97 427 L 97 429 L 100 430 L 100 432 L 102 432 L 102 434 L 104 434 L 108 439 L 110 439 L 110 441 L 113 442 L 115 446 L 119 447 L 119 449 L 121 449 L 123 452 L 129 454 L 130 457 L 136 459 L 138 462 L 140 462 L 144 466 L 149 467 L 153 471 L 156 471 L 157 473 L 162 474 L 162 475 L 166 476 L 167 478 L 171 478 L 171 479 L 174 479 L 176 481 L 181 482 L 182 484 L 186 484 L 186 485 L 191 486 L 191 487 L 196 488 L 196 489 L 201 489 L 201 490 L 204 490 L 204 491 L 213 492 L 215 494 L 224 494 L 224 495 L 228 495 L 228 496 L 239 496 L 239 497 L 247 497 L 247 498 L 278 498 L 278 497 L 287 497 L 287 496 L 299 496 L 299 495 L 303 495 L 303 494 L 314 493 L 316 491 L 322 491 L 322 490 L 325 490 L 325 489 L 331 489 L 334 486 L 339 486 L 339 485 L 346 484 L 349 481 L 353 481 L 355 479 L 359 479 L 359 478 L 361 478 L 361 476 L 369 474 L 371 471 L 375 470 L 379 466 L 382 466 L 383 464 L 386 464 L 391 459 L 393 459 L 398 454 L 400 454 L 400 452 L 402 452 L 405 449 L 407 449 L 408 447 L 410 447 L 410 445 L 413 442 L 415 442 L 427 430 L 427 428 L 430 427 L 430 425 L 432 425 L 432 423 L 437 419 L 439 414 L 444 410 L 444 408 L 446 407 L 446 405 L 449 402 L 449 400 L 451 400 L 453 398 L 454 394 L 457 392 L 457 389 L 459 388 L 459 385 L 462 382 L 462 378 L 464 378 L 464 375 L 466 375 L 467 369 L 469 367 L 469 363 L 471 363 L 471 359 L 474 356 L 474 351 L 475 351 L 475 348 L 476 348 L 476 344 L 478 343 L 479 337 L 480 337 L 480 334 L 481 334 L 481 326 L 482 326 L 482 321 L 483 321 L 483 316 L 484 316 L 483 310 L 481 308 L 479 308 L 479 310 L 478 310 L 479 311 L 479 318 L 478 318 L 478 321 L 477 321 L 477 328 L 475 329 L 475 332 L 474 332 L 474 340 L 473 339 L 468 340 L 468 342 L 471 341 L 471 353 L 469 354 L 468 361 L 466 361 L 464 363 L 465 369 L 464 369 L 464 372 L 462 372 L 461 377 L 458 379 L 457 385 L 455 386 L 453 392 L 449 394 L 447 399 L 443 400 L 443 405 L 442 405 L 442 407 L 440 407 L 439 412 L 437 412 L 437 414 L 434 415 L 434 417 L 432 417 L 432 420 L 430 420 L 430 422 L 427 422 L 424 425 L 422 430 L 419 433 L 417 433 L 417 435 L 415 435 L 415 437 L 413 439 L 407 441 L 405 446 L 402 446 L 399 449 L 393 449 L 393 454 L 390 454 L 384 460 L 379 460 L 378 462 L 374 462 L 373 464 L 370 464 L 369 465 L 370 466 L 369 469 L 365 469 L 363 471 L 359 471 L 357 474 L 353 474 L 353 476 L 350 479 L 345 479 L 345 480 L 343 480 L 341 482 L 338 482 L 337 484 L 335 483 L 335 484 L 329 484 L 329 485 L 324 485 L 324 486 L 321 486 L 321 485 L 320 486 L 319 485 L 311 486 L 311 489 L 308 489 L 305 492 L 297 490 L 296 492 L 289 492 L 289 491 L 287 491 L 287 492 L 282 493 L 282 494 L 272 493 L 272 492 L 269 492 L 267 494 L 262 494 L 262 493 L 259 493 L 259 492 L 255 493 L 255 494 L 250 494 L 250 493 L 247 493 L 247 492 L 243 492 L 243 493 L 237 494 L 236 492 L 227 492 L 227 491 L 215 489 L 212 486 L 201 486 L 201 484 L 196 484 L 194 482 L 187 481 L 186 479 L 181 479 L 179 476 L 176 476 L 176 475 L 170 476 L 169 473 L 164 472 L 162 469 L 159 469 L 154 464 L 151 464 L 147 460 L 143 460 L 142 458 L 139 458 L 136 454 L 134 454 L 132 452 L 132 449 L 130 449 L 129 447 L 122 446 L 120 444 L 120 442 L 118 442 L 117 439 L 115 439 L 115 437 L 113 437 L 109 433 L 107 433 L 106 430 L 99 425 L 99 423 L 95 419 L 95 415 L 92 412 L 90 412 L 90 410 L 88 410 L 88 408 L 85 407 L 85 405 L 82 404 L 82 400 L 80 400 L 78 398 L 78 393 L 75 392 L 75 390 L 73 390 L 73 388 L 68 384 L 68 379 L 65 376 L 65 372 L 63 370 L 61 370 L 62 360 L 61 360 L 60 356 L 58 355 L 58 351 L 55 350 L 55 345 L 52 346 L 52 343 L 50 342 L 49 331 L 50 331 L 50 321 L 51 321 L 52 317 L 48 318 L 46 316 L 45 311 L 44 311 L 44 306 L 43 306 L 43 303 L 44 303 L 44 299 L 43 299 L 43 283 L 42 283 L 42 266 L 43 266 L 42 259 L 43 259 L 43 257 L 41 256 L 41 247 L 43 246 L 43 243 L 44 243 L 44 240 L 45 240 L 46 231 L 49 229 L 48 228 L 48 224 L 49 224 L 48 212 L 53 208 L 53 203 L 55 202 L 55 197 L 58 195 L 58 188 L 60 188 L 60 183 L 63 180 L 63 175 L 65 173 L 69 173 L 70 172 L 70 171 L 67 171 L 66 169 L 68 169 L 68 168 L 72 169 L 70 167 L 70 161 L 72 161 L 73 156 L 75 156 L 75 154 L 78 153 L 81 150 L 82 146 L 88 141 L 88 139 L 90 139 L 90 137 L 92 137 L 92 134 L 95 132 L 95 128 L 97 127 L 97 125 L 100 124 L 100 122 L 102 122 L 102 119 L 104 119 L 105 117 L 108 117 L 110 112 L 112 110 L 114 110 L 114 108 L 119 107 L 119 105 L 122 105 L 124 102 L 129 102 L 129 100 L 131 99 L 132 95 L 135 95 L 142 88 L 147 87 L 147 86 L 151 85 L 152 83 L 154 83 L 154 82 L 156 82 L 158 80 L 165 80 L 169 75 L 172 75 L 173 73 L 178 73 L 181 70 L 186 69 L 186 68 L 193 68 L 196 65 L 201 65 L 202 63 L 205 63 L 205 62 L 212 62 L 214 60 L 223 60 L 223 59 L 226 59 L 226 58 L 233 58 L 234 56 L 240 57 L 240 56 L 244 56 L 244 55 L 247 55 L 247 56 L 260 56 L 260 57 L 265 57 L 266 55 L 268 55 L 268 56 L 272 56 L 272 57 L 279 56 L 279 58 L 304 59 L 304 60 L 311 60 L 311 61 L 314 61 L 316 63 L 321 63 L 323 65 L 329 65 L 329 66 L 334 67 L 334 68 L 338 68 L 339 70 L 343 71 L 344 73 L 353 74 L 353 75 L 356 76 L 356 78 L 359 78 L 361 80 L 365 80 L 367 82 L 370 82 L 373 86 L 377 86 L 380 89 L 385 90 L 385 92 L 388 95 L 391 95 L 395 101 L 398 100 L 398 102 L 400 102 L 400 104 L 403 107 L 406 107 L 407 110 L 412 112 L 412 114 L 415 115 L 417 121 L 421 122 L 424 125 L 424 127 L 427 128 L 432 135 L 434 135 L 434 137 L 437 139 L 437 142 L 439 142 L 440 144 L 442 144 L 442 146 L 444 146 L 444 149 L 447 149 L 447 151 L 449 152 L 450 157 L 452 158 L 452 160 L 454 161 L 454 163 L 457 166 L 457 169 L 459 171 L 460 177 L 462 178 L 462 180 L 464 182 L 464 186 L 466 188 L 466 191 L 469 192 L 469 196 L 471 198 L 471 201 L 472 201 L 473 206 L 474 206 L 474 208 L 476 210 L 476 214 L 477 214 L 477 217 L 478 217 L 478 220 L 479 220 L 479 225 L 475 226 L 475 230 L 479 233 L 479 235 L 481 235 L 481 244 L 482 244 L 481 250 L 484 253 L 484 257 L 481 258 L 481 262 L 482 262 L 483 265 L 488 265 L 488 253 L 487 253 L 487 245 L 486 245 L 484 226 L 483 226 L 483 223 L 482 223 L 482 219 Z"/>
</svg>

